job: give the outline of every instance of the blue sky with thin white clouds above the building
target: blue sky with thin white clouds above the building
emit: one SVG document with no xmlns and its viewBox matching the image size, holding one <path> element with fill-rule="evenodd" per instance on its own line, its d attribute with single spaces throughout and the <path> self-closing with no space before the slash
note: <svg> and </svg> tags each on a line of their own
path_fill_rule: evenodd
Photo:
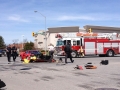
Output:
<svg viewBox="0 0 120 90">
<path fill-rule="evenodd" d="M 34 41 L 46 27 L 120 26 L 120 0 L 0 0 L 0 35 L 5 43 Z M 34 13 L 37 10 L 38 13 Z"/>
</svg>

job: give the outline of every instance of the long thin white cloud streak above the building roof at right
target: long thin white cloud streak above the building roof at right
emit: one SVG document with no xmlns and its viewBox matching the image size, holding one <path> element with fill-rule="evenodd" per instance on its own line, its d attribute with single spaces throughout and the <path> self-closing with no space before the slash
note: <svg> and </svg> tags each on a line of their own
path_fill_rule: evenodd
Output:
<svg viewBox="0 0 120 90">
<path fill-rule="evenodd" d="M 56 20 L 67 21 L 67 20 L 88 20 L 88 21 L 109 21 L 109 20 L 120 20 L 119 15 L 115 14 L 87 14 L 87 15 L 63 15 L 58 16 Z"/>
</svg>

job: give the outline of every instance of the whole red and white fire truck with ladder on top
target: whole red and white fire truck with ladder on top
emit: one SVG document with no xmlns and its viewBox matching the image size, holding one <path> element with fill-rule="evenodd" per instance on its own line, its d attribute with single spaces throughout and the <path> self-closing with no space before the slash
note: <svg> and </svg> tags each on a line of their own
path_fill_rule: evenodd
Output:
<svg viewBox="0 0 120 90">
<path fill-rule="evenodd" d="M 112 57 L 120 53 L 120 40 L 117 33 L 58 33 L 56 55 L 64 56 L 66 42 L 71 44 L 72 57 L 78 57 L 78 50 L 84 55 L 106 55 Z"/>
</svg>

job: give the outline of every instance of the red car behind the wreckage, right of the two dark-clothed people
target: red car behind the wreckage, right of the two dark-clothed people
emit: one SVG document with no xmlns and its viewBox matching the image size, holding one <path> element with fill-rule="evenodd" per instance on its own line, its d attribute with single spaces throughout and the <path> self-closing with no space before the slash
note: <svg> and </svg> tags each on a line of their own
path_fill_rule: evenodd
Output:
<svg viewBox="0 0 120 90">
<path fill-rule="evenodd" d="M 37 57 L 41 55 L 41 53 L 38 50 L 27 50 L 25 52 L 20 53 L 21 61 L 23 61 L 25 58 L 29 57 L 32 54 L 34 54 Z"/>
</svg>

